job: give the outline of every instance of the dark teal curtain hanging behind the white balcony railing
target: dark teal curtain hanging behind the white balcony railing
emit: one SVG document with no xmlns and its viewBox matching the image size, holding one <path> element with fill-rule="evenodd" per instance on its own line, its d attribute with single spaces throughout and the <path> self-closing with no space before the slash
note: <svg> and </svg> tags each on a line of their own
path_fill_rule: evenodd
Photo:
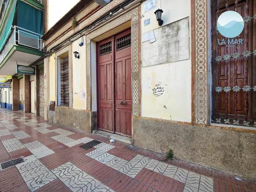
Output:
<svg viewBox="0 0 256 192">
<path fill-rule="evenodd" d="M 18 0 L 17 26 L 43 35 L 43 12 Z"/>
</svg>

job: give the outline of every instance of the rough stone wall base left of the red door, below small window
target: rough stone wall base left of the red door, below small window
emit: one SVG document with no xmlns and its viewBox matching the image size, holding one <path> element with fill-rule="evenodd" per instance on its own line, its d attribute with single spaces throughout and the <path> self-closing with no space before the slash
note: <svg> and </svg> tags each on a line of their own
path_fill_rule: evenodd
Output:
<svg viewBox="0 0 256 192">
<path fill-rule="evenodd" d="M 55 115 L 52 115 L 52 122 L 79 129 L 87 133 L 92 132 L 91 112 L 87 110 L 55 107 Z"/>
</svg>

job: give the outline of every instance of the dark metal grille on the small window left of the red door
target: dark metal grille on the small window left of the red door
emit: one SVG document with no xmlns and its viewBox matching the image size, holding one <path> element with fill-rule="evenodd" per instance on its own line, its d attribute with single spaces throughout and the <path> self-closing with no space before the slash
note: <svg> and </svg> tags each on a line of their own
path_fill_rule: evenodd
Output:
<svg viewBox="0 0 256 192">
<path fill-rule="evenodd" d="M 68 56 L 61 59 L 61 106 L 69 107 Z"/>
</svg>

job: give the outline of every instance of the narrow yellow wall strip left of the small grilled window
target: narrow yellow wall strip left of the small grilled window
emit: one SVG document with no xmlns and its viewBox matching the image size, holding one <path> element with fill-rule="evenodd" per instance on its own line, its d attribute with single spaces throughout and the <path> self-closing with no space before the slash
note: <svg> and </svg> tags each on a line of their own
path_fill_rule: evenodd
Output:
<svg viewBox="0 0 256 192">
<path fill-rule="evenodd" d="M 55 101 L 55 53 L 49 57 L 49 101 Z"/>
</svg>

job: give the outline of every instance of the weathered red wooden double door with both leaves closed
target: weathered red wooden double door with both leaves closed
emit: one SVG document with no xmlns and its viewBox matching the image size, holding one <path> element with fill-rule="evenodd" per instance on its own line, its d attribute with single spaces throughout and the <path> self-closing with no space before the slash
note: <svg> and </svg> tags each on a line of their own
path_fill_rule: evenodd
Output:
<svg viewBox="0 0 256 192">
<path fill-rule="evenodd" d="M 131 30 L 97 44 L 98 128 L 131 136 Z"/>
</svg>

